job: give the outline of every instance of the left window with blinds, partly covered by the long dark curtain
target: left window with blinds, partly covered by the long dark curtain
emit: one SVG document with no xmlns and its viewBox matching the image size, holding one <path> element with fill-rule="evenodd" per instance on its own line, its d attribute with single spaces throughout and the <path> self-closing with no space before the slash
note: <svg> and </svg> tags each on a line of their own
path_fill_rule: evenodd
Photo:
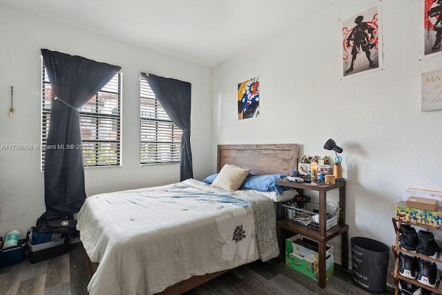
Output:
<svg viewBox="0 0 442 295">
<path fill-rule="evenodd" d="M 55 95 L 42 66 L 41 145 L 46 146 L 50 103 Z M 121 158 L 121 73 L 117 73 L 89 102 L 79 108 L 84 166 L 117 166 Z M 45 149 L 41 149 L 44 170 Z"/>
</svg>

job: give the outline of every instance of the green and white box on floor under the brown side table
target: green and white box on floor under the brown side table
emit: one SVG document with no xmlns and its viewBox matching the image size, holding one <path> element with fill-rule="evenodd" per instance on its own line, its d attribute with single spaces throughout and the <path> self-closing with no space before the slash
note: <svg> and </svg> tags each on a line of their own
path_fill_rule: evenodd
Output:
<svg viewBox="0 0 442 295">
<path fill-rule="evenodd" d="M 285 265 L 318 280 L 318 243 L 300 235 L 285 240 Z M 334 274 L 333 247 L 327 245 L 325 277 Z"/>
</svg>

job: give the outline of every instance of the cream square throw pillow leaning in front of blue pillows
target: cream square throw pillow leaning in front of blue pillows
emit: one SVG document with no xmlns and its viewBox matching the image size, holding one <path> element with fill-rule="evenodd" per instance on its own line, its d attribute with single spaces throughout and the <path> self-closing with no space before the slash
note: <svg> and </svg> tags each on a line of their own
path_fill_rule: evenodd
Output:
<svg viewBox="0 0 442 295">
<path fill-rule="evenodd" d="M 240 188 L 242 182 L 249 175 L 249 169 L 243 169 L 235 165 L 225 164 L 218 176 L 213 180 L 212 187 L 225 189 L 227 191 L 236 191 Z"/>
</svg>

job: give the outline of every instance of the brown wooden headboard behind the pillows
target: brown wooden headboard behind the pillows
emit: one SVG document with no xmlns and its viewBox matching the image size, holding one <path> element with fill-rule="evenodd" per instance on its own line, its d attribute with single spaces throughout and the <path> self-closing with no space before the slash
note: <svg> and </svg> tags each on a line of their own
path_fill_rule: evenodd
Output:
<svg viewBox="0 0 442 295">
<path fill-rule="evenodd" d="M 217 172 L 224 164 L 250 169 L 253 175 L 298 169 L 298 144 L 220 144 Z"/>
</svg>

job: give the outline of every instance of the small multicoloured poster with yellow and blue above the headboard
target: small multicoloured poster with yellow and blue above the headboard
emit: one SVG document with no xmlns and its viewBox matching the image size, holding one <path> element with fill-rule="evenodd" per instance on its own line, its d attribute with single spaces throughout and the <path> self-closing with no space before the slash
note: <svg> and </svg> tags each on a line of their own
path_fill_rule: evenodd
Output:
<svg viewBox="0 0 442 295">
<path fill-rule="evenodd" d="M 260 116 L 259 77 L 238 84 L 238 120 Z"/>
</svg>

